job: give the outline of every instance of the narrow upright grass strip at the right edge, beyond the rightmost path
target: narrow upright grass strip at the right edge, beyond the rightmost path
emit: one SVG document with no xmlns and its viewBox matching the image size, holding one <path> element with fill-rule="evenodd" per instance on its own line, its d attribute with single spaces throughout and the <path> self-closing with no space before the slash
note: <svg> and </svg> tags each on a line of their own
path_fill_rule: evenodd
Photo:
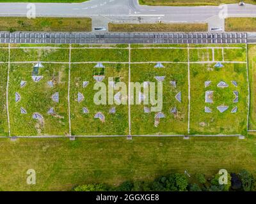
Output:
<svg viewBox="0 0 256 204">
<path fill-rule="evenodd" d="M 256 129 L 256 105 L 255 105 L 255 92 L 256 92 L 256 45 L 248 45 L 248 69 L 250 80 L 250 117 L 249 129 Z"/>
</svg>

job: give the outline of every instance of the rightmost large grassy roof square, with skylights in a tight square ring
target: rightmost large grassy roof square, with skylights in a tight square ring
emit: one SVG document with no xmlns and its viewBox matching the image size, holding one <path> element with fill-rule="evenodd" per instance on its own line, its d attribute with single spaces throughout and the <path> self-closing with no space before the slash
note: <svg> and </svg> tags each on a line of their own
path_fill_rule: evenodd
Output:
<svg viewBox="0 0 256 204">
<path fill-rule="evenodd" d="M 213 68 L 214 64 L 190 64 L 191 76 L 191 134 L 242 134 L 246 135 L 246 115 L 248 85 L 246 82 L 246 64 L 225 64 L 223 68 Z M 205 81 L 211 85 L 205 88 Z M 223 80 L 228 87 L 220 88 L 217 84 Z M 237 87 L 231 81 L 237 82 Z M 205 91 L 213 91 L 213 103 L 204 103 Z M 233 103 L 233 91 L 239 92 L 239 102 Z M 217 106 L 227 105 L 223 113 Z M 204 107 L 212 113 L 205 113 Z M 237 106 L 237 113 L 230 113 Z"/>
</svg>

